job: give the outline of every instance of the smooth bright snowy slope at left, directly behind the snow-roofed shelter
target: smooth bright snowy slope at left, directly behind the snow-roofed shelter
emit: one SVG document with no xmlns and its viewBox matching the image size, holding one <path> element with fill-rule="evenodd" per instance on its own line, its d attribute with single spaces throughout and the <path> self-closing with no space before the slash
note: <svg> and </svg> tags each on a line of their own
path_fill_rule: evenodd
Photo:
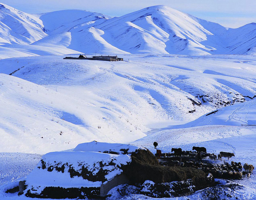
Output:
<svg viewBox="0 0 256 200">
<path fill-rule="evenodd" d="M 126 117 L 133 120 L 125 113 L 120 119 L 120 113 L 93 101 L 13 76 L 0 74 L 0 80 L 2 152 L 46 153 L 74 148 L 81 141 L 128 142 L 145 136 L 126 122 Z"/>
</svg>

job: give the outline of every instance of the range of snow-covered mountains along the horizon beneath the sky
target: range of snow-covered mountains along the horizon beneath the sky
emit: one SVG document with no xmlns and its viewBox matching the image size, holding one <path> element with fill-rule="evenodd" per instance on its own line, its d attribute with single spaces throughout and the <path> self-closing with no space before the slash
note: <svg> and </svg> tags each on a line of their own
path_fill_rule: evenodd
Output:
<svg viewBox="0 0 256 200">
<path fill-rule="evenodd" d="M 256 54 L 255 23 L 226 28 L 164 5 L 114 18 L 81 10 L 31 15 L 5 4 L 0 14 L 2 58 L 78 52 Z"/>
</svg>

